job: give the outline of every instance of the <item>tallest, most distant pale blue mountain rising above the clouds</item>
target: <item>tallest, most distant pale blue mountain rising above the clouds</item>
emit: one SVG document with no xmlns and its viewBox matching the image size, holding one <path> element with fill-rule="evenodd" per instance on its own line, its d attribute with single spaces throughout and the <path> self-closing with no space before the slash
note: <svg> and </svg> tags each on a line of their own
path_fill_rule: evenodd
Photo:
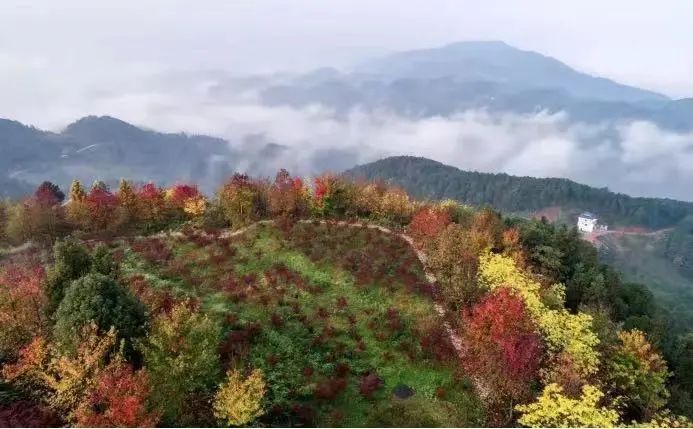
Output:
<svg viewBox="0 0 693 429">
<path fill-rule="evenodd" d="M 495 41 L 394 53 L 351 71 L 322 68 L 254 82 L 252 90 L 272 106 L 320 104 L 338 113 L 385 110 L 416 118 L 469 109 L 565 112 L 586 123 L 645 120 L 672 130 L 693 130 L 690 99 L 671 100 Z M 223 98 L 238 89 L 237 83 L 227 86 L 216 86 L 213 94 Z"/>
</svg>

